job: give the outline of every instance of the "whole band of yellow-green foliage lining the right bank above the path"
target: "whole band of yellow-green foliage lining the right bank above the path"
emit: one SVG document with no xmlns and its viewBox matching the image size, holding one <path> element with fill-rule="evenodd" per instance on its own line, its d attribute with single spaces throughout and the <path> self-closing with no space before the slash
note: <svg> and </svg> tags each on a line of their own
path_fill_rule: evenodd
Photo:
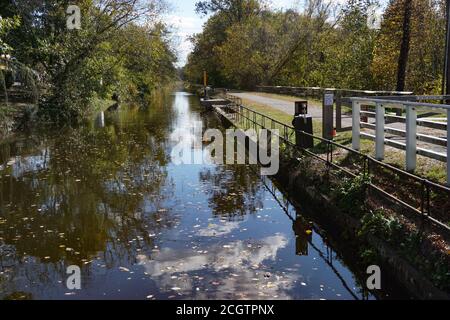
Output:
<svg viewBox="0 0 450 320">
<path fill-rule="evenodd" d="M 198 11 L 212 16 L 192 38 L 185 78 L 202 83 L 206 70 L 220 87 L 395 90 L 404 1 L 389 2 L 380 29 L 367 23 L 376 0 L 308 0 L 302 11 L 274 10 L 265 1 L 200 1 Z M 413 0 L 405 90 L 440 93 L 444 4 Z"/>
</svg>

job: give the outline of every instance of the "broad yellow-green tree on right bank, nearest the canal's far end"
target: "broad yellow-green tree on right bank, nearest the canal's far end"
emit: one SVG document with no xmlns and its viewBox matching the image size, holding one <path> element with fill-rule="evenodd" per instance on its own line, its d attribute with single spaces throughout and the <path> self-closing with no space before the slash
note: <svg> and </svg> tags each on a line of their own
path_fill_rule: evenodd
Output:
<svg viewBox="0 0 450 320">
<path fill-rule="evenodd" d="M 203 33 L 193 39 L 185 71 L 194 82 L 200 83 L 202 71 L 207 70 L 213 85 L 252 88 L 277 83 L 286 73 L 293 74 L 291 62 L 309 53 L 316 35 L 332 28 L 326 22 L 331 5 L 322 0 L 309 1 L 303 14 L 269 10 L 260 3 L 259 10 L 242 20 L 231 19 L 234 22 L 227 8 L 217 5 Z"/>
</svg>

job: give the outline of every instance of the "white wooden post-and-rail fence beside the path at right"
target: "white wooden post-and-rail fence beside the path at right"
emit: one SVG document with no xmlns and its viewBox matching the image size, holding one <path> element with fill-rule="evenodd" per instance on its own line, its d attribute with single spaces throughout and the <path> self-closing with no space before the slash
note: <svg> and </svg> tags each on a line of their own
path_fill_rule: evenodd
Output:
<svg viewBox="0 0 450 320">
<path fill-rule="evenodd" d="M 428 100 L 434 98 L 443 98 L 443 96 L 433 96 L 428 97 Z M 352 147 L 354 150 L 359 151 L 361 148 L 360 138 L 368 138 L 375 140 L 375 158 L 377 160 L 383 161 L 385 157 L 385 146 L 389 145 L 397 149 L 406 150 L 406 171 L 414 172 L 417 168 L 417 155 L 423 155 L 429 158 L 433 158 L 442 162 L 447 163 L 447 184 L 450 186 L 450 147 L 448 146 L 448 141 L 450 141 L 450 126 L 448 125 L 450 119 L 450 105 L 446 104 L 435 104 L 427 102 L 416 102 L 416 101 L 404 101 L 404 100 L 394 100 L 386 98 L 350 98 L 352 101 Z M 422 97 L 419 100 L 427 100 Z M 418 100 L 418 101 L 419 101 Z M 375 124 L 368 124 L 361 122 L 361 115 L 368 115 L 369 112 L 361 111 L 361 106 L 372 106 L 375 107 Z M 395 128 L 386 127 L 386 118 L 392 118 L 393 116 L 386 115 L 386 108 L 401 108 L 406 110 L 406 130 L 399 130 Z M 440 124 L 440 127 L 436 129 L 446 129 L 447 138 L 439 138 L 430 135 L 419 134 L 417 132 L 417 126 L 421 125 L 422 122 L 418 120 L 417 108 L 428 108 L 432 110 L 441 110 L 447 113 L 447 124 Z M 370 115 L 370 114 L 369 114 Z M 395 117 L 399 118 L 399 117 Z M 393 119 L 395 121 L 395 119 Z M 361 132 L 361 127 L 374 129 L 375 135 L 369 135 L 367 133 Z M 392 139 L 386 138 L 386 132 L 390 132 L 397 135 L 404 135 L 406 137 L 406 143 L 400 143 Z M 426 148 L 418 148 L 417 141 L 425 141 L 427 143 L 447 146 L 447 153 L 440 153 L 434 150 Z"/>
</svg>

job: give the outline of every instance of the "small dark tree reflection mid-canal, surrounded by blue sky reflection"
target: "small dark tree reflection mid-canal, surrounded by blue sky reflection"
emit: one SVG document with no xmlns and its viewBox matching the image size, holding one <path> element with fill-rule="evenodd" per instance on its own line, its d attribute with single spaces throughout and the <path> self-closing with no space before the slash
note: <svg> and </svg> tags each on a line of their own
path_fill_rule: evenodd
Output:
<svg viewBox="0 0 450 320">
<path fill-rule="evenodd" d="M 209 205 L 216 216 L 242 219 L 263 207 L 262 185 L 245 165 L 225 165 L 204 169 L 200 180 L 209 187 Z"/>
</svg>

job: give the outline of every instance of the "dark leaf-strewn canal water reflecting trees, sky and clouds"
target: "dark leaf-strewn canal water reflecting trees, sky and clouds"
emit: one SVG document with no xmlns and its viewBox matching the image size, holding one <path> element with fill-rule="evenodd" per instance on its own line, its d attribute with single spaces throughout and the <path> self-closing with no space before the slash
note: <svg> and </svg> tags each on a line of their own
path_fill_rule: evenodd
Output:
<svg viewBox="0 0 450 320">
<path fill-rule="evenodd" d="M 0 299 L 374 299 L 257 168 L 175 165 L 196 121 L 176 92 L 3 142 Z"/>
</svg>

